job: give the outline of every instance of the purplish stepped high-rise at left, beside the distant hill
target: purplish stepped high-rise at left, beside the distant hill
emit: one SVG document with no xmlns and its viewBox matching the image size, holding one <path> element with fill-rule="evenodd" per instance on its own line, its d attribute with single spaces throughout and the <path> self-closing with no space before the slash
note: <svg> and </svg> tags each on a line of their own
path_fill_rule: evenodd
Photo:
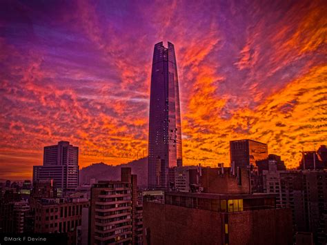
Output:
<svg viewBox="0 0 327 245">
<path fill-rule="evenodd" d="M 33 182 L 53 179 L 62 190 L 75 190 L 79 185 L 79 148 L 68 141 L 45 146 L 43 166 L 33 166 Z"/>
</svg>

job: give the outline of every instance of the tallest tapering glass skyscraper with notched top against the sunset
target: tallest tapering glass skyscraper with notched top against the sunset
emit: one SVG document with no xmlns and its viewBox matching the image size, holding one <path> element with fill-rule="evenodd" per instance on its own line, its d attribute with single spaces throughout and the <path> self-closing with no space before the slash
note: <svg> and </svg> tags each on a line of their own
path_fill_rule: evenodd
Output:
<svg viewBox="0 0 327 245">
<path fill-rule="evenodd" d="M 181 112 L 175 49 L 161 41 L 152 60 L 148 187 L 168 188 L 168 168 L 181 166 Z"/>
</svg>

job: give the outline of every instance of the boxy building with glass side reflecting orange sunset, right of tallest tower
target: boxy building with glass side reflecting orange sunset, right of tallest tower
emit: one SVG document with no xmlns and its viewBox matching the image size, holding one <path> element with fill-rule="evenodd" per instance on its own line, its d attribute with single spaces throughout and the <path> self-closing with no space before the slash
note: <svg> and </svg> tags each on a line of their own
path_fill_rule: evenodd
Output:
<svg viewBox="0 0 327 245">
<path fill-rule="evenodd" d="M 268 158 L 267 144 L 251 139 L 230 141 L 230 166 L 246 168 Z M 234 164 L 234 165 L 233 165 Z"/>
</svg>

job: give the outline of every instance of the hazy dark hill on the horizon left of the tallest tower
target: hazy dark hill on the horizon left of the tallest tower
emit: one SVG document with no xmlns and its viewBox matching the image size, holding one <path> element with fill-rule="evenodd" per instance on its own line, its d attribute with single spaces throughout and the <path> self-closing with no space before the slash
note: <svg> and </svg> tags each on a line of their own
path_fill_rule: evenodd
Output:
<svg viewBox="0 0 327 245">
<path fill-rule="evenodd" d="M 98 180 L 120 180 L 121 167 L 132 168 L 132 174 L 137 175 L 137 185 L 147 186 L 148 184 L 148 157 L 144 157 L 128 164 L 112 166 L 104 164 L 91 164 L 79 170 L 79 184 L 90 184 L 90 179 Z"/>
</svg>

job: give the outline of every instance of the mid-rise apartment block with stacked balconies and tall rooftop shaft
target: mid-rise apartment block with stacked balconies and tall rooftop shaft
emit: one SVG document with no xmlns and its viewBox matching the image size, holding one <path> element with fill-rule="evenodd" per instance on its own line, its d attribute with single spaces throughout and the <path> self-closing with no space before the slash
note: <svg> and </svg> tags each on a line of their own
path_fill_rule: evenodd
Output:
<svg viewBox="0 0 327 245">
<path fill-rule="evenodd" d="M 90 244 L 141 244 L 137 175 L 121 168 L 121 181 L 99 181 L 91 188 Z"/>
</svg>

